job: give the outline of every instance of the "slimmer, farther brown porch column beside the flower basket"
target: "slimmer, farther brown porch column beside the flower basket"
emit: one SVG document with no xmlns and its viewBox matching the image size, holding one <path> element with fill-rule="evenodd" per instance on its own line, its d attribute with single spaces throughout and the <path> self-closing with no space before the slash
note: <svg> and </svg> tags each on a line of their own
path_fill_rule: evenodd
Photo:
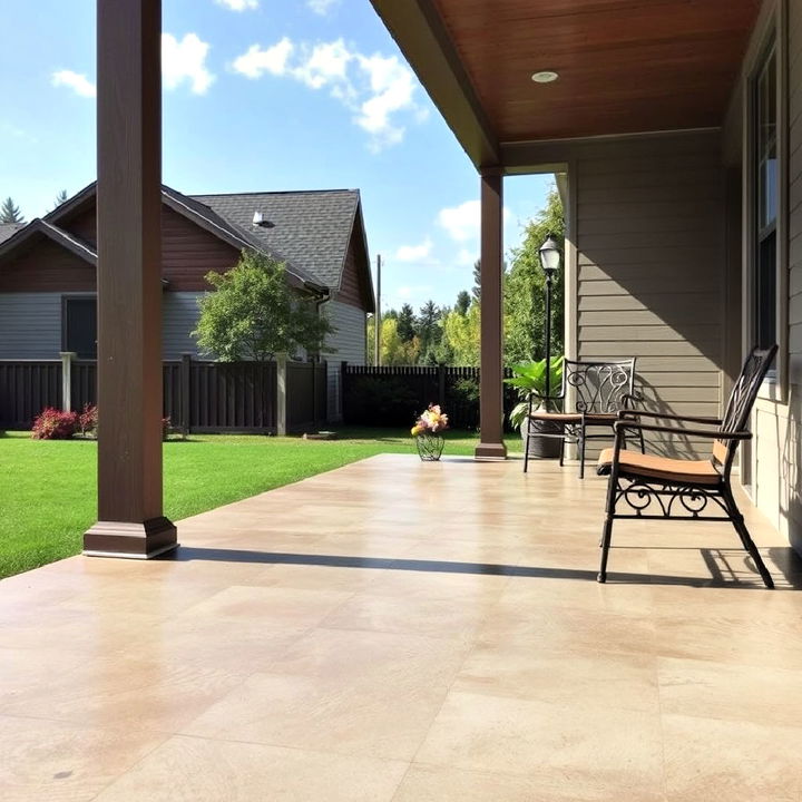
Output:
<svg viewBox="0 0 802 802">
<path fill-rule="evenodd" d="M 502 184 L 500 170 L 486 170 L 481 176 L 481 380 L 479 384 L 479 426 L 481 428 L 477 459 L 506 459 L 503 444 L 501 350 L 503 342 L 503 260 Z"/>
</svg>

